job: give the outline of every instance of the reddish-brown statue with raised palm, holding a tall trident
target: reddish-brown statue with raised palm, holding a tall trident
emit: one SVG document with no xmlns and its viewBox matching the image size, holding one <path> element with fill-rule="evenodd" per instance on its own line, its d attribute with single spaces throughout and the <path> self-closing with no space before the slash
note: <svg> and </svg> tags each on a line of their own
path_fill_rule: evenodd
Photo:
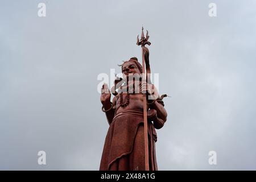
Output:
<svg viewBox="0 0 256 182">
<path fill-rule="evenodd" d="M 123 78 L 115 79 L 114 88 L 111 89 L 114 94 L 112 102 L 108 85 L 102 85 L 102 111 L 108 119 L 109 130 L 102 152 L 100 170 L 158 169 L 155 129 L 162 128 L 167 119 L 162 101 L 166 95 L 160 97 L 156 87 L 151 84 L 150 77 L 143 74 L 144 63 L 147 73 L 150 73 L 149 53 L 144 47 L 146 44 L 150 45 L 148 38 L 148 32 L 144 38 L 142 29 L 141 42 L 138 40 L 137 44 L 142 46 L 143 66 L 136 57 L 131 57 L 121 65 Z"/>
</svg>

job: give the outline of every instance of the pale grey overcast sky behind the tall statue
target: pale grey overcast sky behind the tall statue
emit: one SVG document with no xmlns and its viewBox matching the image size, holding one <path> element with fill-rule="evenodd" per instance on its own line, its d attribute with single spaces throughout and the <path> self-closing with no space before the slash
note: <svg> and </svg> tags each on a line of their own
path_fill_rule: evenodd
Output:
<svg viewBox="0 0 256 182">
<path fill-rule="evenodd" d="M 38 17 L 40 2 L 46 18 Z M 151 72 L 159 73 L 160 94 L 171 96 L 157 131 L 159 169 L 255 170 L 255 7 L 253 0 L 1 1 L 0 169 L 98 170 L 108 122 L 97 76 L 141 60 L 135 42 L 143 24 Z"/>
</svg>

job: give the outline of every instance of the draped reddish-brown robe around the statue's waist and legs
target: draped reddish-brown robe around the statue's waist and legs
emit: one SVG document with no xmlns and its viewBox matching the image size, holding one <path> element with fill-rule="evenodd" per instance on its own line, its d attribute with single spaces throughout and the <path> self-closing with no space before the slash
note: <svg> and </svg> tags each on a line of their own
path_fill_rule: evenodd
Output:
<svg viewBox="0 0 256 182">
<path fill-rule="evenodd" d="M 157 170 L 156 131 L 148 122 L 148 162 Z M 125 110 L 115 114 L 110 123 L 102 152 L 100 170 L 145 170 L 143 110 Z"/>
</svg>

